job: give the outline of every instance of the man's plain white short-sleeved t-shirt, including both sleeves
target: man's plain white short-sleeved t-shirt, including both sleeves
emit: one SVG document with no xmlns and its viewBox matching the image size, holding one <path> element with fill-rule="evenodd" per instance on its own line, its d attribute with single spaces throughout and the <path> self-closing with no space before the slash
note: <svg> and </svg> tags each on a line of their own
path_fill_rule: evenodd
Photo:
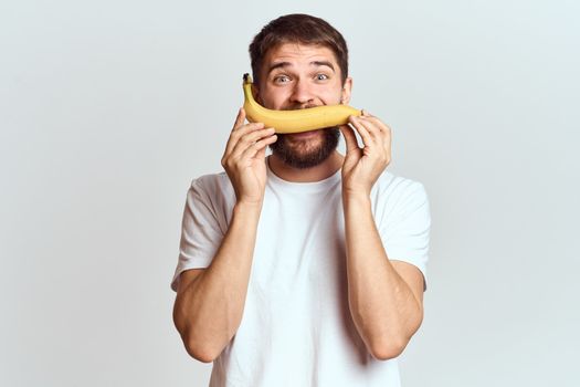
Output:
<svg viewBox="0 0 580 387">
<path fill-rule="evenodd" d="M 289 182 L 267 170 L 243 317 L 210 387 L 400 386 L 397 359 L 373 358 L 350 316 L 340 179 Z M 423 185 L 384 171 L 371 201 L 387 255 L 418 266 L 426 289 Z M 193 180 L 171 289 L 183 270 L 211 263 L 234 203 L 224 172 Z"/>
</svg>

